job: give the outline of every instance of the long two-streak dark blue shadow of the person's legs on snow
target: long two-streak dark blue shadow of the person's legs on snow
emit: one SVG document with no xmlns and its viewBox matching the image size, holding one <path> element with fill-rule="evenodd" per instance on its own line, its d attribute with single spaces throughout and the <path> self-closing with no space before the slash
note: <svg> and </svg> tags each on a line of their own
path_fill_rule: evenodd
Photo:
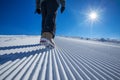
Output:
<svg viewBox="0 0 120 80">
<path fill-rule="evenodd" d="M 16 48 L 25 48 L 25 47 L 35 47 L 38 46 L 40 47 L 40 44 L 33 44 L 33 45 L 23 45 L 23 46 L 10 46 L 10 47 L 2 47 L 0 49 L 2 50 L 6 50 L 6 49 L 16 49 Z M 4 54 L 4 55 L 0 55 L 0 65 L 8 62 L 8 61 L 14 61 L 16 59 L 22 59 L 24 57 L 29 57 L 31 55 L 35 55 L 35 54 L 43 54 L 44 52 L 46 53 L 47 51 L 50 51 L 50 49 L 46 49 L 46 48 L 40 48 L 40 49 L 36 49 L 33 51 L 28 51 L 28 52 L 16 52 L 16 53 L 10 53 L 10 54 Z"/>
</svg>

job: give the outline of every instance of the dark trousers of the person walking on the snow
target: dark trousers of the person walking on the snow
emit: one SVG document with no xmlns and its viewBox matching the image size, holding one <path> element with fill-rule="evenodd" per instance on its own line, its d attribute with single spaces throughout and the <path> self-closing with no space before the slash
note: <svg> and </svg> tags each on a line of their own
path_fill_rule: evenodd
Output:
<svg viewBox="0 0 120 80">
<path fill-rule="evenodd" d="M 44 1 L 41 4 L 42 12 L 42 31 L 41 35 L 44 32 L 50 32 L 55 37 L 56 32 L 56 14 L 58 9 L 58 3 L 56 0 Z"/>
</svg>

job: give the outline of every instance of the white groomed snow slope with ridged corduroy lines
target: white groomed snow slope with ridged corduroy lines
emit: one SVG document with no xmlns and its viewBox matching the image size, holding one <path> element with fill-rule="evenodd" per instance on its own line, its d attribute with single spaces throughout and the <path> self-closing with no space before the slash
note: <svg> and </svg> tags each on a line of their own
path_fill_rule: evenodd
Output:
<svg viewBox="0 0 120 80">
<path fill-rule="evenodd" d="M 56 37 L 56 48 L 39 36 L 0 37 L 0 80 L 120 80 L 120 46 Z"/>
</svg>

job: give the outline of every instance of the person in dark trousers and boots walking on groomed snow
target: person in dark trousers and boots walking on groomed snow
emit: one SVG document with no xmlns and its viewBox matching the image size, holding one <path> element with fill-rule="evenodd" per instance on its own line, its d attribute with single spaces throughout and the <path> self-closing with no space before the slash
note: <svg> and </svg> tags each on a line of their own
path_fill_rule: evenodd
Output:
<svg viewBox="0 0 120 80">
<path fill-rule="evenodd" d="M 65 0 L 36 0 L 36 13 L 42 14 L 42 31 L 40 43 L 55 47 L 56 14 L 59 5 L 61 13 L 65 10 Z"/>
</svg>

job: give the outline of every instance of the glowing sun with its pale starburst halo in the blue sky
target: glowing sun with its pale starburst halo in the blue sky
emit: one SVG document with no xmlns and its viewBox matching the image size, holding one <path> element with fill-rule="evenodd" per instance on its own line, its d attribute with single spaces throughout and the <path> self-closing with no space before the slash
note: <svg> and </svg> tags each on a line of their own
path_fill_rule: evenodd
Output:
<svg viewBox="0 0 120 80">
<path fill-rule="evenodd" d="M 84 22 L 88 26 L 94 26 L 103 22 L 104 9 L 101 7 L 88 7 L 84 9 L 81 14 L 83 15 Z"/>
</svg>

